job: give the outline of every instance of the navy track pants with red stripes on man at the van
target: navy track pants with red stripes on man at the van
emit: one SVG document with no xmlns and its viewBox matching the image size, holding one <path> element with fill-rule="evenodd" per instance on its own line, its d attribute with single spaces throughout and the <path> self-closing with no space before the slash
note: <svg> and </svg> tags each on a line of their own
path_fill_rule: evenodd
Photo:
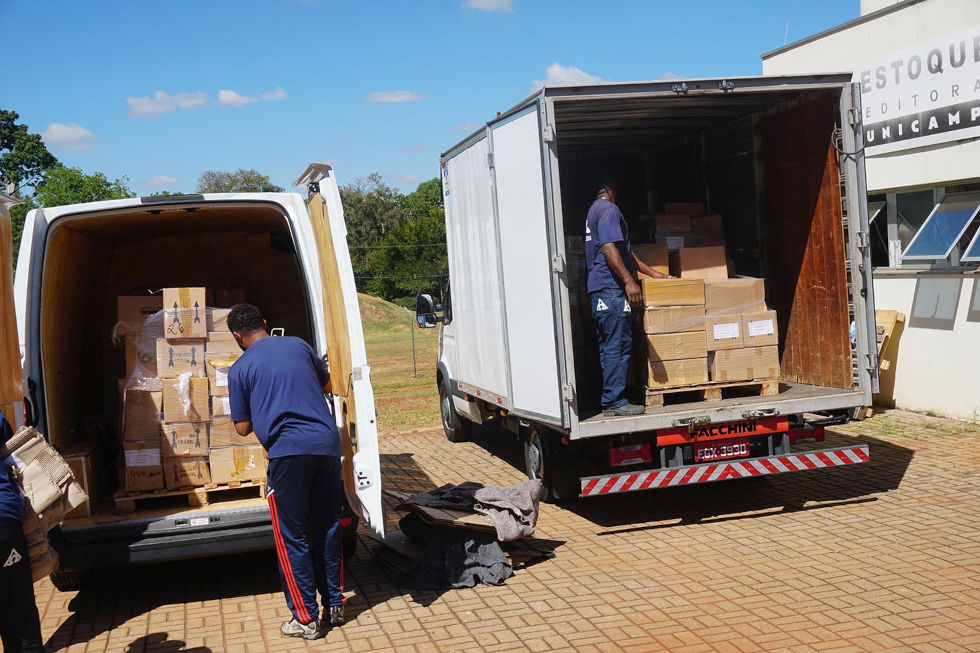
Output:
<svg viewBox="0 0 980 653">
<path fill-rule="evenodd" d="M 344 602 L 340 458 L 270 458 L 268 477 L 282 590 L 290 612 L 306 624 L 319 617 L 317 592 L 324 607 Z"/>
</svg>

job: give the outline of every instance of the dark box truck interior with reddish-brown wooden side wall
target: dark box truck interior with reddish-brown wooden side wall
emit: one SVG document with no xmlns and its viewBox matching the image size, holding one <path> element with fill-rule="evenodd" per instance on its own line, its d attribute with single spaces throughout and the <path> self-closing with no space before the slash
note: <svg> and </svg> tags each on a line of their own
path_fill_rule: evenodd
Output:
<svg viewBox="0 0 980 653">
<path fill-rule="evenodd" d="M 617 182 L 632 240 L 654 242 L 665 202 L 721 214 L 738 275 L 763 277 L 779 315 L 781 379 L 851 389 L 840 90 L 559 99 L 565 235 L 584 235 L 598 171 Z M 588 322 L 588 321 L 586 321 Z M 573 325 L 590 337 L 591 323 Z M 814 362 L 817 362 L 814 365 Z"/>
</svg>

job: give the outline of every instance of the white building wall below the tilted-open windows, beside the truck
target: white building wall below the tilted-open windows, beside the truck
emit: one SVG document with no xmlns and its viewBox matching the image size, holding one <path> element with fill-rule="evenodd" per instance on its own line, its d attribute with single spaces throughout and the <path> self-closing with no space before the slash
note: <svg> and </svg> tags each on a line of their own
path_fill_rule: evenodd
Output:
<svg viewBox="0 0 980 653">
<path fill-rule="evenodd" d="M 917 318 L 912 304 L 924 280 L 947 288 L 959 284 L 959 296 L 946 293 L 938 302 L 925 298 Z M 888 271 L 875 274 L 874 288 L 876 308 L 906 315 L 894 362 L 896 407 L 980 419 L 980 276 Z M 922 315 L 933 309 L 951 317 L 951 325 L 923 320 Z"/>
</svg>

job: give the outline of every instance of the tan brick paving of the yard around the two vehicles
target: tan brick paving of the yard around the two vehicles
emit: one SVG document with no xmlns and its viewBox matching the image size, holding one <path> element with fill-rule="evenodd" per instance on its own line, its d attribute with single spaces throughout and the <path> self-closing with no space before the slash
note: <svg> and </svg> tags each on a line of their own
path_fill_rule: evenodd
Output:
<svg viewBox="0 0 980 653">
<path fill-rule="evenodd" d="M 51 651 L 978 651 L 980 427 L 891 411 L 830 434 L 863 466 L 544 506 L 557 557 L 500 587 L 405 592 L 362 537 L 349 623 L 286 641 L 271 553 L 36 586 Z M 383 436 L 402 490 L 523 478 L 516 441 Z M 390 511 L 393 525 L 399 515 Z"/>
</svg>

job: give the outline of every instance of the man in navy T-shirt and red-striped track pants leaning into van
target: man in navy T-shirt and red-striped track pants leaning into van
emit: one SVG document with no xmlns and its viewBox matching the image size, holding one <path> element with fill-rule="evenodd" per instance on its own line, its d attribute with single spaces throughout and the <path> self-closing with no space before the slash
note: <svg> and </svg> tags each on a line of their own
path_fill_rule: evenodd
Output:
<svg viewBox="0 0 980 653">
<path fill-rule="evenodd" d="M 232 307 L 228 330 L 245 352 L 228 373 L 231 419 L 240 435 L 254 431 L 268 452 L 266 498 L 293 614 L 282 634 L 319 639 L 325 633 L 317 591 L 322 621 L 344 623 L 340 438 L 324 397 L 330 376 L 302 339 L 269 336 L 251 304 Z"/>
</svg>

